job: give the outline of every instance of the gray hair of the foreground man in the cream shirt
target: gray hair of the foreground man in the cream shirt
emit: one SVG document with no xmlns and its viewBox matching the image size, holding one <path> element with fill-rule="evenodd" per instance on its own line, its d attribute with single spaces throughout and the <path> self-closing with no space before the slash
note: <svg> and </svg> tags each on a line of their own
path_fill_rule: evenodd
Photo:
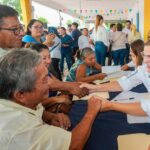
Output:
<svg viewBox="0 0 150 150">
<path fill-rule="evenodd" d="M 15 91 L 31 92 L 37 80 L 35 68 L 40 63 L 36 51 L 10 50 L 0 60 L 0 98 L 11 99 Z"/>
</svg>

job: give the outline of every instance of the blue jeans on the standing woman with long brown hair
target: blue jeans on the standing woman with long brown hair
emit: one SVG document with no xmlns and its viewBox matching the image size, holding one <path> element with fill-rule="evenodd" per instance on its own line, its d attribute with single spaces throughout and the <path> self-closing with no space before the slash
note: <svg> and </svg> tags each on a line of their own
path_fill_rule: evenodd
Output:
<svg viewBox="0 0 150 150">
<path fill-rule="evenodd" d="M 107 56 L 107 46 L 103 42 L 98 41 L 95 43 L 95 55 L 96 61 L 102 66 L 105 66 L 105 60 Z"/>
</svg>

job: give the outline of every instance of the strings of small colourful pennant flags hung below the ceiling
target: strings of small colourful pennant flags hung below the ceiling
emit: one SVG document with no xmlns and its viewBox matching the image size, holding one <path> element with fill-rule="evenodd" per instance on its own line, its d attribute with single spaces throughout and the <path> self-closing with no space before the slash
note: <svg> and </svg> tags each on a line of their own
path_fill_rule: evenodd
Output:
<svg viewBox="0 0 150 150">
<path fill-rule="evenodd" d="M 132 12 L 132 9 L 62 9 L 60 10 L 64 13 L 72 13 L 75 16 L 78 16 L 79 19 L 94 19 L 96 14 L 101 14 L 103 16 L 116 16 L 116 15 L 125 15 Z M 89 15 L 90 14 L 90 15 Z"/>
</svg>

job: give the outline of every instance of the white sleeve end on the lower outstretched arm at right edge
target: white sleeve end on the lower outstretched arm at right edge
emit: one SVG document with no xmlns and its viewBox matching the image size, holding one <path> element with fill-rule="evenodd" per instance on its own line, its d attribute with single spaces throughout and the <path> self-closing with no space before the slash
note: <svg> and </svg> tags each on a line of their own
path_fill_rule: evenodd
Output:
<svg viewBox="0 0 150 150">
<path fill-rule="evenodd" d="M 150 117 L 150 100 L 141 100 L 141 107 L 144 110 L 144 112 Z"/>
</svg>

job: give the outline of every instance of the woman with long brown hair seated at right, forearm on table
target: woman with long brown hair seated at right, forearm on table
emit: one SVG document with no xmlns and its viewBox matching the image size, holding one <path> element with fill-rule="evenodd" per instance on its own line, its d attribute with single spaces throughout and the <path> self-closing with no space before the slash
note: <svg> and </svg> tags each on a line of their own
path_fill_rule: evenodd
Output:
<svg viewBox="0 0 150 150">
<path fill-rule="evenodd" d="M 124 66 L 121 67 L 122 70 L 129 70 L 130 68 L 137 68 L 138 66 L 142 65 L 143 57 L 142 52 L 144 50 L 144 41 L 142 40 L 135 40 L 130 45 L 130 55 L 132 61 Z"/>
</svg>

